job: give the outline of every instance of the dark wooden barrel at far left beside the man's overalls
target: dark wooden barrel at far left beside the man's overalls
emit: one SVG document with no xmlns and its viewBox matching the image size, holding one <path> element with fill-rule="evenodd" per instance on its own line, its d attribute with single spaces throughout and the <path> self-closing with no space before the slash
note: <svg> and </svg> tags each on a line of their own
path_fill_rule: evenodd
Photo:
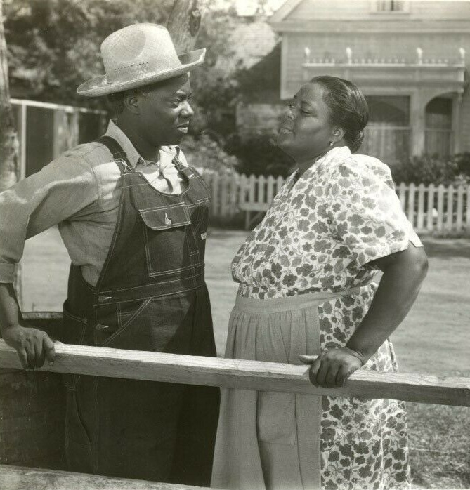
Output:
<svg viewBox="0 0 470 490">
<path fill-rule="evenodd" d="M 56 337 L 61 313 L 23 314 L 28 326 Z M 0 463 L 65 469 L 65 390 L 60 373 L 0 370 Z"/>
</svg>

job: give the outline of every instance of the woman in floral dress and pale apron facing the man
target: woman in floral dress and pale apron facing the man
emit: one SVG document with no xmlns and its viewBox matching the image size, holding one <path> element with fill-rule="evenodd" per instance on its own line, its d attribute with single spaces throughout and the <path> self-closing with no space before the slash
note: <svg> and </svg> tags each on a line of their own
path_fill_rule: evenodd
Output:
<svg viewBox="0 0 470 490">
<path fill-rule="evenodd" d="M 233 260 L 240 288 L 227 357 L 312 363 L 312 382 L 325 388 L 362 366 L 396 371 L 388 338 L 410 310 L 427 260 L 389 168 L 354 154 L 367 119 L 363 95 L 346 80 L 315 77 L 294 96 L 278 145 L 297 170 Z M 223 393 L 216 488 L 408 484 L 403 402 Z"/>
</svg>

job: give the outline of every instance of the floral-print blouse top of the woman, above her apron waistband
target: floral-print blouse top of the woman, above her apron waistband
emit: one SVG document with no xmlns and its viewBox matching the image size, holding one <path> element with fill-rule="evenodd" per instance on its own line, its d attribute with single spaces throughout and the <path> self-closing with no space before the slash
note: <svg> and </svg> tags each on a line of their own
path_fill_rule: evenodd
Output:
<svg viewBox="0 0 470 490">
<path fill-rule="evenodd" d="M 282 298 L 363 286 L 371 262 L 422 246 L 388 166 L 335 147 L 295 180 L 293 173 L 232 263 L 238 294 Z"/>
</svg>

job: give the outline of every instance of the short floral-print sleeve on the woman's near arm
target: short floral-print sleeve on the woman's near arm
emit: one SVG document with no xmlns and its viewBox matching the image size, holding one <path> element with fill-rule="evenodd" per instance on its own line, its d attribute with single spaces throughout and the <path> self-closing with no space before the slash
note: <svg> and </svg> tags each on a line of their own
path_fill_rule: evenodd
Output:
<svg viewBox="0 0 470 490">
<path fill-rule="evenodd" d="M 410 241 L 422 246 L 403 213 L 390 170 L 380 161 L 374 171 L 343 164 L 328 187 L 332 230 L 360 267 L 407 249 Z"/>
</svg>

